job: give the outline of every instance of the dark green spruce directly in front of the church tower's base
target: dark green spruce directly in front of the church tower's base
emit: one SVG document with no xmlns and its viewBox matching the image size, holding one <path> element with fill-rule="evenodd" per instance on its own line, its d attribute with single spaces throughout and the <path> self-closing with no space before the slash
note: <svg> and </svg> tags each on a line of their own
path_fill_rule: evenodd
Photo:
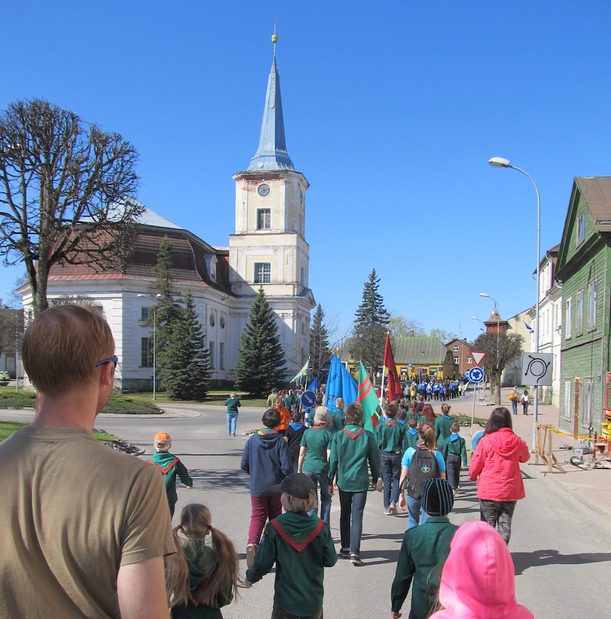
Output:
<svg viewBox="0 0 611 619">
<path fill-rule="evenodd" d="M 239 360 L 235 365 L 236 387 L 253 395 L 268 395 L 285 378 L 284 354 L 278 327 L 263 286 L 250 306 L 248 323 L 240 338 Z"/>
</svg>

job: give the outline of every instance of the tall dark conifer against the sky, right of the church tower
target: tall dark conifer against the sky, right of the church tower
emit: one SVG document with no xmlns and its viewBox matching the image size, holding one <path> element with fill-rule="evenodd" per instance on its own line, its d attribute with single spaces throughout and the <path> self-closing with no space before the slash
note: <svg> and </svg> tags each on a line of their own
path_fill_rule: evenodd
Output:
<svg viewBox="0 0 611 619">
<path fill-rule="evenodd" d="M 374 381 L 378 367 L 384 363 L 386 332 L 390 320 L 384 299 L 378 292 L 379 286 L 380 279 L 373 269 L 363 287 L 363 301 L 356 310 L 352 340 L 352 352 L 363 361 L 363 365 L 372 369 Z"/>
</svg>

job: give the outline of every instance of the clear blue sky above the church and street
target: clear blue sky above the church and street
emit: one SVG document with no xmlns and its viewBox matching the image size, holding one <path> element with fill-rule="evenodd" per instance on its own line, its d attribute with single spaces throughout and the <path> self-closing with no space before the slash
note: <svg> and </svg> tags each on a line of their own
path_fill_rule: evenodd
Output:
<svg viewBox="0 0 611 619">
<path fill-rule="evenodd" d="M 213 245 L 259 141 L 277 21 L 286 143 L 310 182 L 310 287 L 475 338 L 535 302 L 575 176 L 611 174 L 608 0 L 7 3 L 0 109 L 46 98 L 140 153 L 138 198 Z M 21 269 L 2 267 L 0 297 Z"/>
</svg>

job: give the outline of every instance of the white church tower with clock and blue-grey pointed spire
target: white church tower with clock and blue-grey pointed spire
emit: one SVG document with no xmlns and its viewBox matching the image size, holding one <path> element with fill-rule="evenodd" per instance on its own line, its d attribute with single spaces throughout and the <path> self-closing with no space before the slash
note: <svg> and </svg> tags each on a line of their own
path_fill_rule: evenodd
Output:
<svg viewBox="0 0 611 619">
<path fill-rule="evenodd" d="M 229 237 L 230 283 L 239 333 L 259 286 L 278 317 L 288 373 L 308 358 L 310 247 L 305 242 L 305 192 L 286 151 L 280 76 L 276 58 L 268 78 L 259 147 L 235 180 L 235 234 Z M 295 370 L 297 371 L 297 370 Z"/>
</svg>

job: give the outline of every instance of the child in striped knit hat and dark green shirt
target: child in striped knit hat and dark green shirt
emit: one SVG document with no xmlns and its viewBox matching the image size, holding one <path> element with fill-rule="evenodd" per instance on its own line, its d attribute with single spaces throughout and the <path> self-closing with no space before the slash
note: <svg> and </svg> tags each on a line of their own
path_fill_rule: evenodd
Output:
<svg viewBox="0 0 611 619">
<path fill-rule="evenodd" d="M 443 564 L 458 527 L 447 518 L 454 504 L 452 489 L 445 479 L 427 479 L 422 486 L 422 509 L 427 521 L 410 528 L 403 536 L 391 589 L 391 616 L 398 619 L 411 587 L 409 619 L 426 619 L 437 602 Z"/>
</svg>

